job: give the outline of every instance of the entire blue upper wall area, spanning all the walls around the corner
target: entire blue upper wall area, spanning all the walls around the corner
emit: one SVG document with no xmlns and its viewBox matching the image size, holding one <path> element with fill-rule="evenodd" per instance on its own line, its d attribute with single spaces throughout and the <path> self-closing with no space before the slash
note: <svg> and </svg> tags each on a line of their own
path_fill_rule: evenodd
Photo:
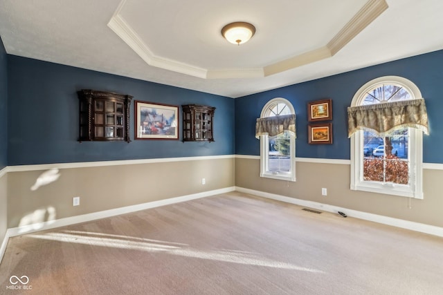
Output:
<svg viewBox="0 0 443 295">
<path fill-rule="evenodd" d="M 7 58 L 6 58 L 7 57 Z M 5 68 L 8 68 L 6 71 Z M 300 158 L 350 159 L 347 113 L 356 91 L 371 79 L 398 75 L 414 82 L 428 108 L 431 135 L 424 135 L 424 162 L 443 163 L 443 50 L 305 83 L 230 99 L 81 68 L 6 55 L 0 46 L 0 169 L 8 165 L 170 158 L 198 155 L 260 155 L 255 119 L 269 99 L 284 97 L 296 108 L 296 155 Z M 133 95 L 164 104 L 215 106 L 215 142 L 134 140 L 77 142 L 76 91 L 92 88 Z M 8 95 L 6 95 L 8 94 Z M 8 97 L 8 99 L 6 99 Z M 307 102 L 333 101 L 333 144 L 307 144 Z M 8 112 L 6 109 L 8 108 Z M 235 108 L 235 110 L 234 110 Z M 6 119 L 8 117 L 8 119 Z M 235 117 L 235 121 L 232 118 Z M 8 131 L 4 126 L 8 126 Z M 180 127 L 181 131 L 181 127 Z M 181 137 L 181 133 L 180 133 Z M 8 145 L 6 145 L 8 142 Z M 6 160 L 8 153 L 8 159 Z"/>
</svg>

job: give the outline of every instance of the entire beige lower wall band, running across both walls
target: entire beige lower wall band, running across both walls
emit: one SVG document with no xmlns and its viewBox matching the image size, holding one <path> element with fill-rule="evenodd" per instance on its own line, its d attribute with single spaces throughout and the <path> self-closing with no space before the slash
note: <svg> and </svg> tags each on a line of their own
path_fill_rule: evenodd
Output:
<svg viewBox="0 0 443 295">
<path fill-rule="evenodd" d="M 443 227 L 442 170 L 424 169 L 424 200 L 351 191 L 349 164 L 297 162 L 296 182 L 260 178 L 255 158 L 69 168 L 32 191 L 44 171 L 10 171 L 0 178 L 1 239 L 7 228 L 19 225 L 234 186 Z M 321 196 L 322 187 L 327 196 Z M 75 196 L 80 196 L 78 207 L 72 206 Z"/>
</svg>

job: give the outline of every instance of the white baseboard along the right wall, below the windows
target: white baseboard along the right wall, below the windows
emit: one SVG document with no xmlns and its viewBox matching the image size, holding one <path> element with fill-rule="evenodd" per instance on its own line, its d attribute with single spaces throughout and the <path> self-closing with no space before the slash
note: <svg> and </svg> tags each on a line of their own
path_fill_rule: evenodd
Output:
<svg viewBox="0 0 443 295">
<path fill-rule="evenodd" d="M 443 227 L 435 227 L 433 225 L 425 225 L 423 223 L 402 220 L 398 218 L 392 218 L 387 216 L 381 216 L 373 213 L 367 213 L 362 211 L 356 211 L 352 209 L 347 209 L 343 207 L 332 206 L 329 204 L 323 204 L 319 202 L 313 202 L 308 200 L 300 200 L 296 198 L 290 198 L 287 196 L 276 195 L 274 193 L 266 193 L 264 191 L 255 191 L 253 189 L 245 189 L 243 187 L 235 187 L 235 191 L 242 193 L 249 193 L 251 195 L 260 196 L 263 198 L 269 198 L 273 200 L 278 200 L 282 202 L 288 202 L 291 204 L 297 204 L 303 207 L 309 207 L 313 209 L 318 209 L 327 212 L 337 213 L 338 211 L 345 212 L 347 216 L 359 218 L 363 220 L 368 220 L 372 222 L 378 222 L 383 225 L 391 225 L 393 227 L 400 227 L 402 229 L 410 229 L 412 231 L 419 231 L 424 234 L 431 234 L 434 236 L 443 237 Z"/>
</svg>

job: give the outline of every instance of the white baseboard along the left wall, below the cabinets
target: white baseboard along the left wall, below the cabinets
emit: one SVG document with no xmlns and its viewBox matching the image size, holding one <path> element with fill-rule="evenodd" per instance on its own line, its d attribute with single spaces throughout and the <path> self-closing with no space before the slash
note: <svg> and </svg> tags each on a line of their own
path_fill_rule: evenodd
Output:
<svg viewBox="0 0 443 295">
<path fill-rule="evenodd" d="M 158 200 L 158 201 L 147 202 L 147 203 L 143 203 L 143 204 L 136 204 L 136 205 L 132 205 L 132 206 L 121 207 L 121 208 L 116 208 L 116 209 L 109 209 L 109 210 L 105 210 L 105 211 L 88 213 L 88 214 L 83 214 L 83 215 L 79 215 L 79 216 L 60 218 L 57 220 L 38 222 L 33 225 L 25 225 L 22 227 L 12 227 L 6 231 L 6 236 L 3 239 L 3 242 L 1 243 L 0 263 L 1 263 L 1 259 L 3 258 L 3 254 L 5 254 L 6 245 L 8 245 L 8 240 L 10 237 L 13 237 L 13 236 L 19 236 L 22 234 L 30 234 L 35 231 L 44 231 L 46 229 L 54 229 L 56 227 L 64 227 L 66 225 L 75 225 L 76 223 L 80 223 L 80 222 L 87 222 L 87 221 L 91 221 L 91 220 L 97 220 L 97 219 L 101 219 L 101 218 L 117 216 L 120 214 L 131 213 L 131 212 L 141 211 L 141 210 L 155 208 L 155 207 L 161 207 L 161 206 L 165 206 L 168 204 L 174 204 L 174 203 L 178 203 L 178 202 L 185 202 L 185 201 L 189 201 L 189 200 L 195 200 L 195 199 L 199 199 L 199 198 L 215 196 L 220 193 L 228 193 L 230 191 L 235 191 L 235 187 L 226 187 L 224 189 L 215 189 L 213 191 L 204 191 L 202 193 L 193 193 L 192 195 L 187 195 L 187 196 L 180 196 L 180 197 L 169 198 L 169 199 L 165 199 L 165 200 Z"/>
</svg>

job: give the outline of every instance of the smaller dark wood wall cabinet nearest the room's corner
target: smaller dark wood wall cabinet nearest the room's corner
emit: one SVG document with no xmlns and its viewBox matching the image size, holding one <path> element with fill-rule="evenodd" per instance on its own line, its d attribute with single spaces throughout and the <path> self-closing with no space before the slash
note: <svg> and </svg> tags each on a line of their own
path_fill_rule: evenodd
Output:
<svg viewBox="0 0 443 295">
<path fill-rule="evenodd" d="M 183 110 L 183 142 L 213 142 L 215 107 L 186 104 L 181 108 Z"/>
</svg>

